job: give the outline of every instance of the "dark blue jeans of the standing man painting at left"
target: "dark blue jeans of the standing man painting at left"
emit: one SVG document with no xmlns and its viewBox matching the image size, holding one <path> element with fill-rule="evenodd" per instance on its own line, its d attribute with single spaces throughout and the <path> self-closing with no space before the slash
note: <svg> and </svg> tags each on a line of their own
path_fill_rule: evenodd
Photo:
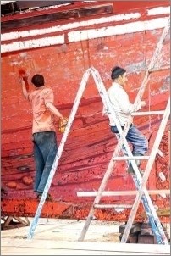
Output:
<svg viewBox="0 0 171 256">
<path fill-rule="evenodd" d="M 36 132 L 33 134 L 33 143 L 36 164 L 34 191 L 42 193 L 58 151 L 56 133 L 54 131 Z"/>
</svg>

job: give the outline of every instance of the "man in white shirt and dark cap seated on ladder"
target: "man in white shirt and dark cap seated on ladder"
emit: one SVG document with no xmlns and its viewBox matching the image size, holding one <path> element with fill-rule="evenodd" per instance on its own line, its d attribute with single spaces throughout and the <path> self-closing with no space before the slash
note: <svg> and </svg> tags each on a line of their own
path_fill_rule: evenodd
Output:
<svg viewBox="0 0 171 256">
<path fill-rule="evenodd" d="M 127 81 L 126 70 L 118 66 L 114 67 L 112 70 L 111 78 L 113 80 L 113 83 L 112 86 L 108 89 L 108 97 L 110 102 L 112 103 L 116 118 L 119 120 L 119 124 L 124 130 L 124 125 L 126 124 L 130 114 L 144 107 L 146 103 L 144 101 L 141 101 L 136 109 L 134 105 L 130 103 L 129 96 L 124 90 L 124 86 L 126 85 Z M 108 113 L 105 108 L 103 108 L 103 114 L 108 115 L 111 131 L 119 136 L 119 131 L 115 124 L 113 115 Z M 146 139 L 146 136 L 144 136 L 133 123 L 130 125 L 130 129 L 126 135 L 126 140 L 131 143 L 132 154 L 134 156 L 143 156 L 147 152 L 148 141 Z M 135 160 L 135 162 L 139 167 L 141 164 L 141 160 Z M 131 164 L 129 165 L 128 172 L 131 175 L 135 175 Z"/>
</svg>

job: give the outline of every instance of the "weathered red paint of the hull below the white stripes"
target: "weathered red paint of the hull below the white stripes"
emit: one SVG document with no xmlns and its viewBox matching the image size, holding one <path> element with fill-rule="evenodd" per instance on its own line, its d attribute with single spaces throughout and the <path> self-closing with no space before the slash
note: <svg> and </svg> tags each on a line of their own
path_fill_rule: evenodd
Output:
<svg viewBox="0 0 171 256">
<path fill-rule="evenodd" d="M 119 4 L 115 3 L 116 6 Z M 126 4 L 126 3 L 125 3 Z M 136 4 L 134 2 L 134 4 Z M 144 3 L 143 3 L 144 4 Z M 158 3 L 157 3 L 158 5 Z M 156 6 L 157 6 L 156 5 Z M 160 3 L 161 5 L 161 3 Z M 137 10 L 144 12 L 146 5 Z M 124 8 L 128 8 L 124 5 Z M 119 10 L 119 13 L 121 11 Z M 144 19 L 144 18 L 143 18 Z M 97 25 L 97 28 L 99 26 Z M 39 26 L 37 26 L 39 28 Z M 162 29 L 137 32 L 120 36 L 108 36 L 84 42 L 74 42 L 61 46 L 43 47 L 23 52 L 5 53 L 2 56 L 2 183 L 7 194 L 2 194 L 2 213 L 20 216 L 34 216 L 38 202 L 33 193 L 35 176 L 31 144 L 31 109 L 25 102 L 19 86 L 19 68 L 24 68 L 29 77 L 35 73 L 45 75 L 47 84 L 55 92 L 55 104 L 61 112 L 69 116 L 79 88 L 82 75 L 94 66 L 102 75 L 106 88 L 110 86 L 110 70 L 120 64 L 132 70 L 129 75 L 130 99 L 134 101 L 144 77 L 143 62 L 152 58 Z M 141 43 L 140 43 L 141 42 Z M 134 43 L 134 47 L 132 44 Z M 163 45 L 163 66 L 168 65 L 169 38 Z M 108 50 L 107 50 L 108 49 Z M 140 72 L 135 67 L 140 66 Z M 152 73 L 144 99 L 150 100 L 151 110 L 163 110 L 169 94 L 169 70 Z M 149 91 L 152 97 L 149 99 Z M 148 110 L 148 107 L 144 109 Z M 149 131 L 149 117 L 136 117 L 135 124 L 148 137 L 152 132 L 150 149 L 160 124 L 160 118 L 152 116 L 152 131 Z M 58 130 L 58 123 L 57 123 Z M 58 143 L 62 135 L 58 133 Z M 78 198 L 78 191 L 97 190 L 108 162 L 116 146 L 116 138 L 110 132 L 108 119 L 102 116 L 102 101 L 94 81 L 90 79 L 77 111 L 69 138 L 53 178 L 50 192 L 53 203 L 45 203 L 41 216 L 69 217 L 83 219 L 87 216 L 93 198 Z M 148 181 L 148 189 L 168 189 L 168 127 L 163 136 L 160 149 L 164 153 L 157 156 Z M 146 166 L 146 163 L 144 163 Z M 165 181 L 159 178 L 163 172 Z M 107 190 L 135 190 L 134 183 L 126 173 L 124 162 L 119 162 L 108 182 Z M 132 197 L 105 198 L 105 203 L 133 203 Z M 153 203 L 159 209 L 169 206 L 169 198 L 153 196 Z M 86 202 L 86 203 L 85 203 Z M 117 213 L 116 210 L 97 210 L 99 220 L 126 221 L 130 210 Z M 136 215 L 143 219 L 142 206 Z M 162 216 L 163 222 L 169 221 Z"/>
</svg>

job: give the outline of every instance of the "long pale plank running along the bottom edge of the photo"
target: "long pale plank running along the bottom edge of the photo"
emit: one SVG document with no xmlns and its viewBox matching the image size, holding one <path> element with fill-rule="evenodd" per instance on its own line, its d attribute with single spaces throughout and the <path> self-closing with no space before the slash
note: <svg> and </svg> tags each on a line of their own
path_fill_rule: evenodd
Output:
<svg viewBox="0 0 171 256">
<path fill-rule="evenodd" d="M 47 253 L 47 250 L 47 255 L 49 255 L 51 251 L 52 253 L 58 253 L 58 255 L 63 255 L 66 251 L 69 253 L 68 255 L 71 255 L 70 253 L 73 253 L 72 255 L 79 255 L 77 253 L 81 253 L 80 255 L 99 255 L 99 253 L 105 253 L 106 255 L 117 255 L 114 253 L 119 253 L 119 255 L 122 255 L 121 253 L 124 253 L 123 255 L 125 255 L 125 253 L 136 253 L 136 255 L 138 255 L 138 253 L 141 253 L 141 255 L 142 253 L 143 255 L 146 255 L 145 253 L 148 253 L 148 255 L 149 253 L 152 253 L 152 255 L 170 255 L 170 247 L 168 245 L 146 244 L 146 247 L 141 247 L 140 244 L 134 244 L 134 246 L 132 246 L 132 244 L 129 243 L 121 244 L 113 242 L 67 242 L 6 238 L 2 240 L 1 248 L 2 255 L 7 255 L 7 253 L 14 255 L 14 253 L 24 253 L 25 251 L 29 254 L 32 251 L 32 253 L 36 252 L 42 255 L 42 253 Z M 59 254 L 59 252 L 61 254 Z"/>
</svg>

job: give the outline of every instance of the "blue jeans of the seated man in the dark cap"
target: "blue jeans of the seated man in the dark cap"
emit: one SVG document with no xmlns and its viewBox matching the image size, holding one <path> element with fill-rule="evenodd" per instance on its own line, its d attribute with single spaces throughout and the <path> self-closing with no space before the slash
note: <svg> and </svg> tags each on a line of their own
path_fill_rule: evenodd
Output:
<svg viewBox="0 0 171 256">
<path fill-rule="evenodd" d="M 124 130 L 124 126 L 121 127 Z M 117 126 L 111 126 L 111 131 L 113 133 L 116 133 L 119 136 L 119 131 L 117 129 Z M 148 150 L 148 140 L 146 139 L 146 136 L 144 136 L 141 131 L 139 131 L 135 125 L 130 125 L 129 131 L 127 135 L 125 136 L 126 140 L 132 144 L 132 154 L 140 154 L 144 155 Z M 125 148 L 123 145 L 123 151 L 124 154 L 128 155 L 128 153 L 125 152 Z"/>
</svg>

